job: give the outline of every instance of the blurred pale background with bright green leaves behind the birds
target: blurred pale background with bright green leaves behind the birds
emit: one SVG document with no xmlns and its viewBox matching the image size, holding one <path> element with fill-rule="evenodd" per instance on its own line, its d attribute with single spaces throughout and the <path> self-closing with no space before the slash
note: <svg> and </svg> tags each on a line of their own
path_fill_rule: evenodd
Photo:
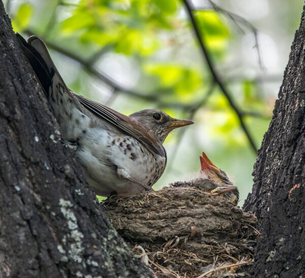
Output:
<svg viewBox="0 0 305 278">
<path fill-rule="evenodd" d="M 68 86 L 131 114 L 162 109 L 195 125 L 165 141 L 154 186 L 188 180 L 204 151 L 239 187 L 252 188 L 256 153 L 210 68 L 178 0 L 4 1 L 15 31 L 36 34 Z M 268 129 L 303 0 L 189 0 L 208 57 L 257 148 Z"/>
</svg>

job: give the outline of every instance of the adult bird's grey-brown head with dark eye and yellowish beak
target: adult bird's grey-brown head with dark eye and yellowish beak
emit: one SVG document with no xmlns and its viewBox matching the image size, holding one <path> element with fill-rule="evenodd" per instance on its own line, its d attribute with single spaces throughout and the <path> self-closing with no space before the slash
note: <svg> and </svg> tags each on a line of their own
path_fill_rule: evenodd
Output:
<svg viewBox="0 0 305 278">
<path fill-rule="evenodd" d="M 173 119 L 165 112 L 158 109 L 146 109 L 129 115 L 142 126 L 152 132 L 161 143 L 173 129 L 193 124 L 192 121 Z"/>
</svg>

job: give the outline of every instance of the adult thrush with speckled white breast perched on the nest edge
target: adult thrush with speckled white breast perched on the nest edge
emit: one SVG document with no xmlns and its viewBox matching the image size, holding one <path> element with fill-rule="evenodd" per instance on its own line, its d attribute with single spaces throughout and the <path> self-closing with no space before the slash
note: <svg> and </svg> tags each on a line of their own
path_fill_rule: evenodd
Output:
<svg viewBox="0 0 305 278">
<path fill-rule="evenodd" d="M 166 166 L 166 136 L 193 122 L 157 109 L 125 116 L 77 95 L 63 81 L 41 39 L 17 38 L 96 194 L 129 196 L 150 190 Z"/>
</svg>

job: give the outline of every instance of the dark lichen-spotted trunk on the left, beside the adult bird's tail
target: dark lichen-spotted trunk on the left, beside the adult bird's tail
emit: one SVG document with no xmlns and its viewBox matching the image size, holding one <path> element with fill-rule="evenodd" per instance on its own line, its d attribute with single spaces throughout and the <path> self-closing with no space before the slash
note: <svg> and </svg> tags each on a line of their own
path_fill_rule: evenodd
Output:
<svg viewBox="0 0 305 278">
<path fill-rule="evenodd" d="M 0 277 L 149 277 L 59 133 L 0 1 Z"/>
</svg>

